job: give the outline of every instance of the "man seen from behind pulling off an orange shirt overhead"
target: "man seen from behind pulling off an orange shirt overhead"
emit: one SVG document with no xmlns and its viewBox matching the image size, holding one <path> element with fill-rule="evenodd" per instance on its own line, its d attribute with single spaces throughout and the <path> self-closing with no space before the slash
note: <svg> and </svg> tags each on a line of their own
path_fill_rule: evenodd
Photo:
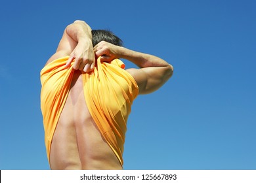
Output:
<svg viewBox="0 0 256 183">
<path fill-rule="evenodd" d="M 140 69 L 124 70 L 119 58 Z M 123 169 L 133 99 L 158 90 L 172 74 L 169 63 L 122 47 L 110 32 L 92 31 L 83 21 L 68 25 L 41 71 L 51 169 Z"/>
</svg>

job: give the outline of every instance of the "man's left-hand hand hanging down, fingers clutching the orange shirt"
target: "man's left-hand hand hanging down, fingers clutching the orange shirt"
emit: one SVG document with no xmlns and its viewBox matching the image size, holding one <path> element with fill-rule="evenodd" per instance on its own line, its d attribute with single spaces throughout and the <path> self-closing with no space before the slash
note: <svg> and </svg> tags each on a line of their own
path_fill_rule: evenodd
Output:
<svg viewBox="0 0 256 183">
<path fill-rule="evenodd" d="M 78 42 L 70 54 L 66 67 L 69 67 L 73 60 L 75 60 L 73 65 L 75 70 L 84 71 L 85 73 L 93 71 L 95 67 L 95 53 L 93 52 L 91 40 Z"/>
</svg>

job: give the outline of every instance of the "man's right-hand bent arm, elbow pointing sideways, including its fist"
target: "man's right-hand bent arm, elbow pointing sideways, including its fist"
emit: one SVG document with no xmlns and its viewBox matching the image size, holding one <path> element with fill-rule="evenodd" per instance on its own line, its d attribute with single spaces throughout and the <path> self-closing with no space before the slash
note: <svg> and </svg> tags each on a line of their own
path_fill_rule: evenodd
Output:
<svg viewBox="0 0 256 183">
<path fill-rule="evenodd" d="M 104 41 L 98 43 L 94 50 L 97 57 L 102 56 L 102 61 L 123 58 L 140 67 L 140 69 L 126 70 L 135 78 L 140 94 L 158 90 L 173 75 L 173 66 L 150 54 L 135 52 Z"/>
</svg>

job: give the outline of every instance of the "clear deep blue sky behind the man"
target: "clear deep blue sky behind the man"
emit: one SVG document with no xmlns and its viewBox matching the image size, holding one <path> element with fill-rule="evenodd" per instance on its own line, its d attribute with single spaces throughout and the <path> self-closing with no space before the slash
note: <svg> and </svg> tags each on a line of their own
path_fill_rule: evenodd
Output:
<svg viewBox="0 0 256 183">
<path fill-rule="evenodd" d="M 254 0 L 3 1 L 0 169 L 49 169 L 39 73 L 74 20 L 175 68 L 135 100 L 124 169 L 256 169 L 255 9 Z"/>
</svg>

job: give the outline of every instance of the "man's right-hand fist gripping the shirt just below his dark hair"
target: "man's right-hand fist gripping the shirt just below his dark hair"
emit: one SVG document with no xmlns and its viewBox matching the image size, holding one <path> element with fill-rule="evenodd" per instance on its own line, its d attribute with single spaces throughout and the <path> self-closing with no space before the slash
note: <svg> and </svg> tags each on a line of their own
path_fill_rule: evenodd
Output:
<svg viewBox="0 0 256 183">
<path fill-rule="evenodd" d="M 100 58 L 100 61 L 112 61 L 119 58 L 118 50 L 120 46 L 111 44 L 110 42 L 101 41 L 93 48 L 96 58 Z"/>
</svg>

